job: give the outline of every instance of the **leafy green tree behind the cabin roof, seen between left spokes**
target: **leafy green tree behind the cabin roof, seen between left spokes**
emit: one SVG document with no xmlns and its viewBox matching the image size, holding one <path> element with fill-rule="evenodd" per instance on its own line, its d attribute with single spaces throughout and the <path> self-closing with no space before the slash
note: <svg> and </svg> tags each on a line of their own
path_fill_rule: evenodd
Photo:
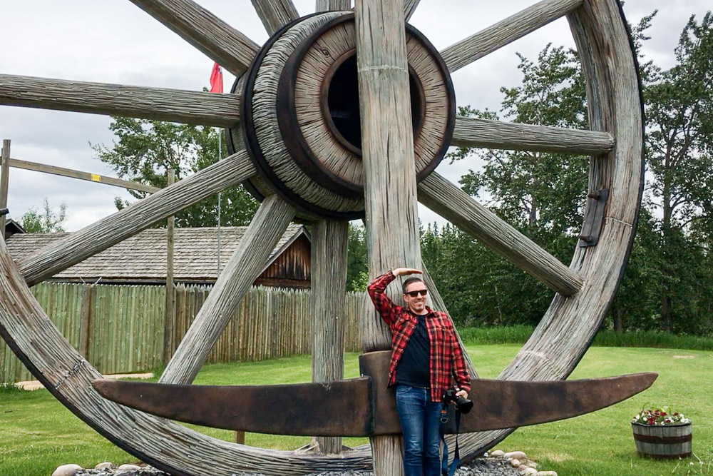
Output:
<svg viewBox="0 0 713 476">
<path fill-rule="evenodd" d="M 92 145 L 96 158 L 113 167 L 120 178 L 163 188 L 168 171 L 175 171 L 176 181 L 217 161 L 215 129 L 149 119 L 112 117 L 109 129 L 116 140 L 111 146 Z M 225 156 L 225 144 L 222 156 Z M 136 198 L 146 193 L 130 191 Z M 221 193 L 223 226 L 250 223 L 257 202 L 242 185 L 226 188 Z M 115 199 L 117 208 L 128 202 Z M 176 226 L 216 226 L 217 195 L 188 207 L 175 216 Z"/>
</svg>

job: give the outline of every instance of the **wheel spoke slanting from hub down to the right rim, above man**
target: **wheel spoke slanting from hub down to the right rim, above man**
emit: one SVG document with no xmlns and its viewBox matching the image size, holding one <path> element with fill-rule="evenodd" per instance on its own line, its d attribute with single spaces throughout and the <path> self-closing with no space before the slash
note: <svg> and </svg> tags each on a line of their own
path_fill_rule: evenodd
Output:
<svg viewBox="0 0 713 476">
<path fill-rule="evenodd" d="M 556 292 L 582 288 L 580 275 L 437 173 L 419 183 L 419 200 Z"/>
</svg>

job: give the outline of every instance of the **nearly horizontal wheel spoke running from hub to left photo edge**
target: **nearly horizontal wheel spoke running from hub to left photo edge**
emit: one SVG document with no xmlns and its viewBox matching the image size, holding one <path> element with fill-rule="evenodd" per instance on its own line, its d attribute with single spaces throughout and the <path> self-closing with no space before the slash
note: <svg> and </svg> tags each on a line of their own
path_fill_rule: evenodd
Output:
<svg viewBox="0 0 713 476">
<path fill-rule="evenodd" d="M 0 74 L 0 104 L 232 127 L 240 96 Z"/>
</svg>

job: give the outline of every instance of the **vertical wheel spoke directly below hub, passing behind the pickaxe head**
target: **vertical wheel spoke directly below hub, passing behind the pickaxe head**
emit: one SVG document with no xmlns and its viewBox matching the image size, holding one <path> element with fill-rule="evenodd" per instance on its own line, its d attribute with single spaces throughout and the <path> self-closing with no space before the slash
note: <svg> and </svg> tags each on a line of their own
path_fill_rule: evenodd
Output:
<svg viewBox="0 0 713 476">
<path fill-rule="evenodd" d="M 344 301 L 347 298 L 346 221 L 312 227 L 312 382 L 344 378 Z M 315 437 L 317 451 L 342 452 L 342 438 Z"/>
</svg>

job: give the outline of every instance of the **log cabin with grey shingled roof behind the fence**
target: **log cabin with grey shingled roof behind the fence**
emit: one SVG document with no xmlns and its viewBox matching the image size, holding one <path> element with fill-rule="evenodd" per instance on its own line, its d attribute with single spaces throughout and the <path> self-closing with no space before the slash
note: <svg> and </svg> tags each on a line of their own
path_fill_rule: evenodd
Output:
<svg viewBox="0 0 713 476">
<path fill-rule="evenodd" d="M 218 269 L 225 268 L 247 227 L 220 228 L 220 260 L 217 228 L 176 228 L 174 232 L 174 282 L 215 283 Z M 17 233 L 7 245 L 18 261 L 68 233 Z M 58 283 L 164 285 L 166 280 L 167 231 L 144 230 L 111 248 L 53 275 Z M 279 239 L 255 285 L 309 288 L 311 243 L 307 229 L 290 225 Z"/>
</svg>

